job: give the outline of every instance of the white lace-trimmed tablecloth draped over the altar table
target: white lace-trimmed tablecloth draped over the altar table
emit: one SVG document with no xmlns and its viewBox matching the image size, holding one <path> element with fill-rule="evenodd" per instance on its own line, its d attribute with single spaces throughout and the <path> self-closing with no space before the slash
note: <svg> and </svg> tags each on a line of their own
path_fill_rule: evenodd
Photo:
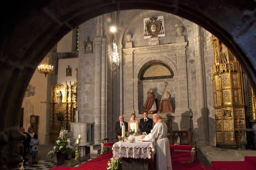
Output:
<svg viewBox="0 0 256 170">
<path fill-rule="evenodd" d="M 154 158 L 156 148 L 156 140 L 149 142 L 135 141 L 130 142 L 117 142 L 113 145 L 113 157 L 120 158 Z"/>
</svg>

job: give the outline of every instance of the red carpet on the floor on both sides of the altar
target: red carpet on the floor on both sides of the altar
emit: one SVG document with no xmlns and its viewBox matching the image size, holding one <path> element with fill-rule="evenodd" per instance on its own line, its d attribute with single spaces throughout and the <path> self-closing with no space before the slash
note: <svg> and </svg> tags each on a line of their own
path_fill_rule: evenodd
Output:
<svg viewBox="0 0 256 170">
<path fill-rule="evenodd" d="M 203 167 L 198 159 L 193 163 L 183 164 L 182 162 L 190 160 L 190 152 L 186 151 L 191 150 L 191 148 L 189 145 L 170 146 L 173 170 L 256 170 L 256 157 L 245 157 L 245 161 L 242 162 L 213 161 L 211 167 Z M 180 152 L 181 150 L 184 152 Z M 51 170 L 106 170 L 107 162 L 112 156 L 112 150 L 110 150 L 108 153 L 93 158 L 78 167 L 55 167 Z"/>
</svg>

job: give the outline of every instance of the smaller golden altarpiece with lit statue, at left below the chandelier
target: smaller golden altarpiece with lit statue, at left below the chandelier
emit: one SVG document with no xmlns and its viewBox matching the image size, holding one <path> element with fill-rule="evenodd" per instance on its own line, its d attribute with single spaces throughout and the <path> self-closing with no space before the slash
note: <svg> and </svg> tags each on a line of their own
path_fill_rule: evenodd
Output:
<svg viewBox="0 0 256 170">
<path fill-rule="evenodd" d="M 70 132 L 70 122 L 74 122 L 77 101 L 77 84 L 57 84 L 51 86 L 50 142 L 54 143 L 61 127 Z"/>
</svg>

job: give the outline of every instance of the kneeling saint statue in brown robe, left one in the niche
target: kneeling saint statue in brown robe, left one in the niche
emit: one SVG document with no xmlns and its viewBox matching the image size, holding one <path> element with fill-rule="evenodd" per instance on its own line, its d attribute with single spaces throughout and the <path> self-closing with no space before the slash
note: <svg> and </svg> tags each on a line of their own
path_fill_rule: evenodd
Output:
<svg viewBox="0 0 256 170">
<path fill-rule="evenodd" d="M 157 106 L 156 106 L 156 95 L 153 93 L 153 88 L 149 88 L 147 91 L 147 100 L 145 104 L 143 105 L 141 114 L 145 111 L 151 111 L 152 113 L 157 112 Z"/>
</svg>

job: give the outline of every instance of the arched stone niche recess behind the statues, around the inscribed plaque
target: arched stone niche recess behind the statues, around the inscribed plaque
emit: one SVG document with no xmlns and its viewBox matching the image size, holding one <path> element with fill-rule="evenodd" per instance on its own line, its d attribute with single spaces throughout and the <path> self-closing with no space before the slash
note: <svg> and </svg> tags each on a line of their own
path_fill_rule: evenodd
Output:
<svg viewBox="0 0 256 170">
<path fill-rule="evenodd" d="M 149 60 L 149 59 L 147 59 L 147 60 Z M 171 73 L 171 76 L 170 77 L 164 77 L 164 76 L 163 77 L 152 77 L 150 79 L 144 79 L 143 74 L 149 67 L 154 66 L 154 63 L 163 64 L 162 67 L 165 67 L 166 69 L 168 69 L 168 71 Z M 158 60 L 149 60 L 148 62 L 144 63 L 144 65 L 142 65 L 142 67 L 139 69 L 139 73 L 138 73 L 138 77 L 137 77 L 138 78 L 138 88 L 137 89 L 138 89 L 139 113 L 141 112 L 143 105 L 146 101 L 147 91 L 149 90 L 149 88 L 153 88 L 153 92 L 156 95 L 157 106 L 159 109 L 161 95 L 162 95 L 163 89 L 164 89 L 164 82 L 166 82 L 166 81 L 169 83 L 175 82 L 175 80 L 173 80 L 174 73 L 169 64 L 165 64 L 165 62 L 163 60 L 159 60 L 159 59 Z M 167 88 L 165 89 L 164 92 L 171 93 L 172 104 L 173 104 L 173 107 L 175 108 L 175 98 L 173 97 L 173 93 L 174 93 L 173 86 L 170 86 L 170 85 L 167 86 Z"/>
</svg>

